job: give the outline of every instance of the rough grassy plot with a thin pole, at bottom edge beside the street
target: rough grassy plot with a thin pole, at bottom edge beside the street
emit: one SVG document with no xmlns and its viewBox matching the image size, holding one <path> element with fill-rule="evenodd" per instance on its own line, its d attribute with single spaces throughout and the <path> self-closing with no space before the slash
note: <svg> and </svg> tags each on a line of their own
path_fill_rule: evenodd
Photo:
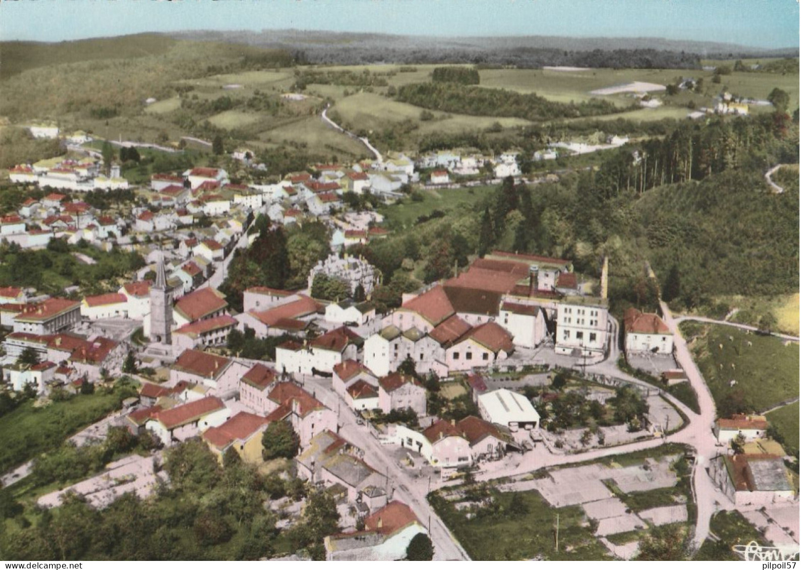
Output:
<svg viewBox="0 0 801 570">
<path fill-rule="evenodd" d="M 551 508 L 536 491 L 489 492 L 493 507 L 482 509 L 472 519 L 436 493 L 431 496 L 431 504 L 473 560 L 530 560 L 534 556 L 610 560 L 609 552 L 586 526 L 582 508 Z M 517 510 L 509 512 L 513 503 Z M 558 551 L 553 536 L 557 513 Z"/>
</svg>

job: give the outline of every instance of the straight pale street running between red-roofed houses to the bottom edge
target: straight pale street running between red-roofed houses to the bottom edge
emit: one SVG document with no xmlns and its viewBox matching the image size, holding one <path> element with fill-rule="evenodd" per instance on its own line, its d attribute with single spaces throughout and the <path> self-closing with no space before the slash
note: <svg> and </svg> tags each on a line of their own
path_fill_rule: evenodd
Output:
<svg viewBox="0 0 801 570">
<path fill-rule="evenodd" d="M 390 449 L 394 446 L 384 447 L 368 432 L 367 427 L 356 424 L 356 415 L 349 410 L 336 392 L 332 391 L 330 379 L 306 377 L 304 386 L 306 390 L 313 391 L 315 397 L 330 409 L 339 411 L 340 435 L 364 450 L 368 464 L 387 476 L 388 483 L 394 489 L 393 498 L 408 504 L 421 523 L 429 526 L 434 544 L 434 560 L 470 560 L 465 549 L 426 500 L 429 490 L 428 480 L 413 479 L 409 476 L 409 473 L 392 457 Z"/>
</svg>

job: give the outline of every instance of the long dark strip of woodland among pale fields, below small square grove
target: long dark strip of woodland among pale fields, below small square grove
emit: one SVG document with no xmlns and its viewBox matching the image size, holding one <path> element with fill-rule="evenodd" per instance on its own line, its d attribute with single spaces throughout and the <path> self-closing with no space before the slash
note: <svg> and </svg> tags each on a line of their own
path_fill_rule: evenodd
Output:
<svg viewBox="0 0 801 570">
<path fill-rule="evenodd" d="M 503 89 L 461 86 L 457 83 L 413 83 L 397 90 L 397 99 L 427 109 L 489 117 L 519 117 L 529 121 L 590 117 L 618 112 L 614 103 L 593 100 L 578 103 L 549 101 L 537 94 Z"/>
</svg>

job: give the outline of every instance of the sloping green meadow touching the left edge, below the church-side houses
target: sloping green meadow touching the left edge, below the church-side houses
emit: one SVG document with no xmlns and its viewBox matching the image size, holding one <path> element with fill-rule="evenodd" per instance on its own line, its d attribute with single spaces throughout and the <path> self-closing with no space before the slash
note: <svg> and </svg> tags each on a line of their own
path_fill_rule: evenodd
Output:
<svg viewBox="0 0 801 570">
<path fill-rule="evenodd" d="M 98 389 L 92 395 L 75 395 L 44 407 L 22 403 L 0 417 L 0 472 L 25 463 L 39 453 L 58 448 L 74 433 L 102 419 L 119 407 L 119 391 Z"/>
</svg>

